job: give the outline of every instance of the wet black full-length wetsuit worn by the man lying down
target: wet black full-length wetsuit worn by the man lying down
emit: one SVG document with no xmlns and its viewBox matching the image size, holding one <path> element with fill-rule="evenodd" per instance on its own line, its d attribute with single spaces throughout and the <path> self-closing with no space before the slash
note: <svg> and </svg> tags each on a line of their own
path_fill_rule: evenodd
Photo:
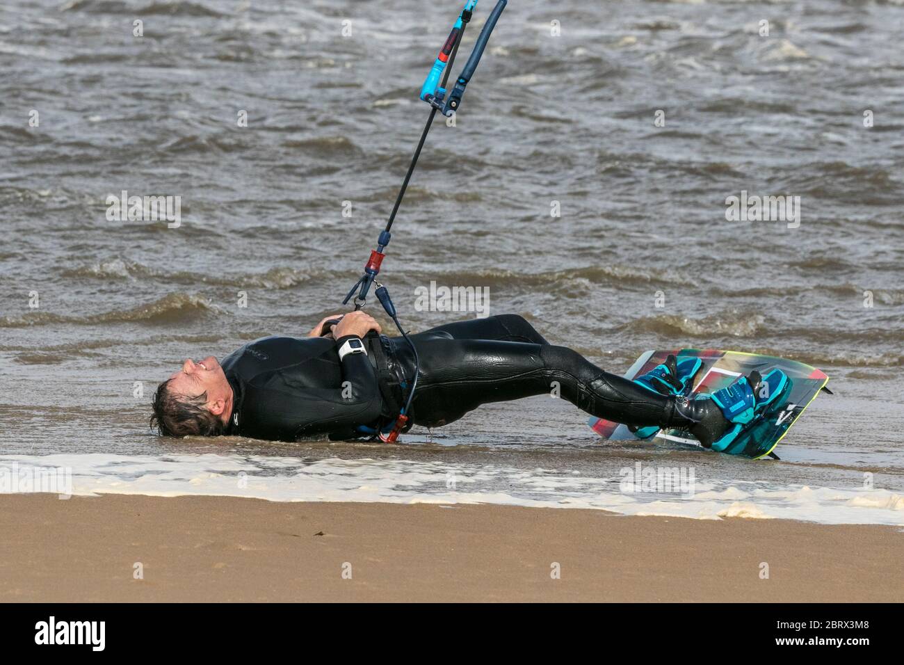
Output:
<svg viewBox="0 0 904 665">
<path fill-rule="evenodd" d="M 420 374 L 410 424 L 451 423 L 489 402 L 551 394 L 628 425 L 683 426 L 675 400 L 612 375 L 576 351 L 555 347 L 522 317 L 450 323 L 411 335 Z M 264 337 L 221 365 L 234 392 L 229 434 L 296 441 L 363 436 L 399 413 L 414 370 L 401 337 L 366 337 L 368 355 L 339 361 L 343 340 Z"/>
</svg>

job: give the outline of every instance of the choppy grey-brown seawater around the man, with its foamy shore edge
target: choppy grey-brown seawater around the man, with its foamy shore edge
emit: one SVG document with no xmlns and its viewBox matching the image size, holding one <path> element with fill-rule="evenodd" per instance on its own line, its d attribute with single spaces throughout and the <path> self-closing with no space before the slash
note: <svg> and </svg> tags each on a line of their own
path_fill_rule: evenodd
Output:
<svg viewBox="0 0 904 665">
<path fill-rule="evenodd" d="M 415 309 L 436 280 L 487 287 L 490 313 L 522 314 L 611 371 L 680 346 L 817 366 L 835 394 L 781 461 L 600 442 L 547 397 L 392 447 L 148 432 L 150 394 L 182 358 L 302 335 L 340 309 L 457 5 L 0 6 L 0 457 L 66 461 L 78 491 L 231 493 L 244 479 L 282 500 L 904 523 L 894 2 L 511 3 L 457 126 L 428 138 L 383 264 L 413 330 L 474 316 Z M 181 226 L 108 221 L 123 190 L 181 196 Z M 726 221 L 741 191 L 799 195 L 800 226 Z M 638 461 L 693 470 L 693 497 L 621 491 Z"/>
</svg>

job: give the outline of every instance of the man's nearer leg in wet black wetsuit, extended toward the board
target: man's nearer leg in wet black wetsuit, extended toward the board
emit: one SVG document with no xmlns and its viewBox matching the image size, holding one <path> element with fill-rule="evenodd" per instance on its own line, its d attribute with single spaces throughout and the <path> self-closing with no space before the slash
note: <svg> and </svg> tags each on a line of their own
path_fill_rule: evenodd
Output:
<svg viewBox="0 0 904 665">
<path fill-rule="evenodd" d="M 674 397 L 604 372 L 567 347 L 448 337 L 415 343 L 421 367 L 413 404 L 418 424 L 451 423 L 481 404 L 551 394 L 554 389 L 579 409 L 617 423 L 691 424 L 676 413 Z"/>
</svg>

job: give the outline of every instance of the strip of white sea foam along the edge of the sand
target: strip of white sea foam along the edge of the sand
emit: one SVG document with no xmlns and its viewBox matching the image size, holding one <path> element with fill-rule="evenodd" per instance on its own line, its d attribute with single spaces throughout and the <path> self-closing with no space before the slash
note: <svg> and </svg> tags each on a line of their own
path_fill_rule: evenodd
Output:
<svg viewBox="0 0 904 665">
<path fill-rule="evenodd" d="M 621 491 L 620 478 L 574 471 L 409 460 L 305 461 L 220 454 L 0 457 L 0 493 L 33 491 L 16 479 L 65 470 L 64 493 L 245 497 L 270 501 L 488 503 L 597 508 L 623 515 L 692 519 L 781 518 L 823 524 L 904 525 L 904 496 L 887 489 L 775 487 L 739 480 L 696 481 L 692 491 Z M 44 489 L 48 491 L 48 489 Z M 51 491 L 58 491 L 52 489 Z"/>
</svg>

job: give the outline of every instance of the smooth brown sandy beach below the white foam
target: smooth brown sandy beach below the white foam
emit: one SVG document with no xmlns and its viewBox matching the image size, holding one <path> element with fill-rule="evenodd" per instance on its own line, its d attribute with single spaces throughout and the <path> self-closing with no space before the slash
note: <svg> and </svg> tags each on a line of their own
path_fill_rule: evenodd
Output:
<svg viewBox="0 0 904 665">
<path fill-rule="evenodd" d="M 7 602 L 890 602 L 904 587 L 899 527 L 47 494 L 0 497 L 0 524 Z"/>
</svg>

